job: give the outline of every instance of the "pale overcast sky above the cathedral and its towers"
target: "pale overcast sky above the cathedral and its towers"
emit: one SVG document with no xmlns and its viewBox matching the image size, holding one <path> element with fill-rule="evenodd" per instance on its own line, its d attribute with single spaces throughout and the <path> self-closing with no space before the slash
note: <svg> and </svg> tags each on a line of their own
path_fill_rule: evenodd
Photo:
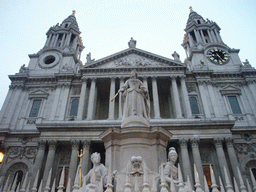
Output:
<svg viewBox="0 0 256 192">
<path fill-rule="evenodd" d="M 240 49 L 240 59 L 256 67 L 255 0 L 1 0 L 0 107 L 9 89 L 8 75 L 28 65 L 28 54 L 42 49 L 48 29 L 72 10 L 85 46 L 83 63 L 89 52 L 98 60 L 127 49 L 131 37 L 139 49 L 169 58 L 177 51 L 184 61 L 181 43 L 189 6 L 215 21 L 224 43 Z"/>
</svg>

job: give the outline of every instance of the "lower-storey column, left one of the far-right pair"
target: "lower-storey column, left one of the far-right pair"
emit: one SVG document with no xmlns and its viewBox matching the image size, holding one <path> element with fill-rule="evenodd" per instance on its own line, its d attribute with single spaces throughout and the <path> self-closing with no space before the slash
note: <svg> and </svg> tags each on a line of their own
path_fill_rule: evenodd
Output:
<svg viewBox="0 0 256 192">
<path fill-rule="evenodd" d="M 227 173 L 228 173 L 229 180 L 232 181 L 231 177 L 230 177 L 225 153 L 223 151 L 222 142 L 223 142 L 223 139 L 220 139 L 220 138 L 214 139 L 214 145 L 215 145 L 217 156 L 218 156 L 222 180 L 224 181 L 224 179 L 225 179 L 225 172 L 224 172 L 224 167 L 225 167 L 227 170 Z"/>
</svg>

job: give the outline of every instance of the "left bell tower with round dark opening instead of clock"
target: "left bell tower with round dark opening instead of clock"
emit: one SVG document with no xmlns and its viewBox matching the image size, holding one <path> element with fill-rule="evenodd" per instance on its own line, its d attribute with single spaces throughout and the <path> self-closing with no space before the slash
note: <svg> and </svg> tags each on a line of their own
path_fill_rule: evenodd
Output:
<svg viewBox="0 0 256 192">
<path fill-rule="evenodd" d="M 29 55 L 30 75 L 76 73 L 82 65 L 80 57 L 84 49 L 80 33 L 75 11 L 61 24 L 50 27 L 44 47 Z"/>
</svg>

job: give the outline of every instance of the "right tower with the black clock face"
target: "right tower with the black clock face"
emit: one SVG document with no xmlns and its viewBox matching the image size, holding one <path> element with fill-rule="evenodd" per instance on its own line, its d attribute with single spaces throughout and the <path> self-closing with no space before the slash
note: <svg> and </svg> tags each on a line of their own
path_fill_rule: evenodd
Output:
<svg viewBox="0 0 256 192">
<path fill-rule="evenodd" d="M 190 7 L 190 14 L 182 43 L 186 51 L 185 63 L 190 70 L 238 71 L 241 61 L 239 49 L 231 49 L 220 36 L 220 27 L 204 19 Z"/>
</svg>

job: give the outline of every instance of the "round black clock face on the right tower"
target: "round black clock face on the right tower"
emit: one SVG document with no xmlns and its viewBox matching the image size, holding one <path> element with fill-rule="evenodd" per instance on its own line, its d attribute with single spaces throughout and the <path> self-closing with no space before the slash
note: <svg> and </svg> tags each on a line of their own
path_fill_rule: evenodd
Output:
<svg viewBox="0 0 256 192">
<path fill-rule="evenodd" d="M 206 57 L 214 64 L 224 65 L 229 61 L 230 55 L 219 48 L 212 48 L 207 51 Z"/>
</svg>

